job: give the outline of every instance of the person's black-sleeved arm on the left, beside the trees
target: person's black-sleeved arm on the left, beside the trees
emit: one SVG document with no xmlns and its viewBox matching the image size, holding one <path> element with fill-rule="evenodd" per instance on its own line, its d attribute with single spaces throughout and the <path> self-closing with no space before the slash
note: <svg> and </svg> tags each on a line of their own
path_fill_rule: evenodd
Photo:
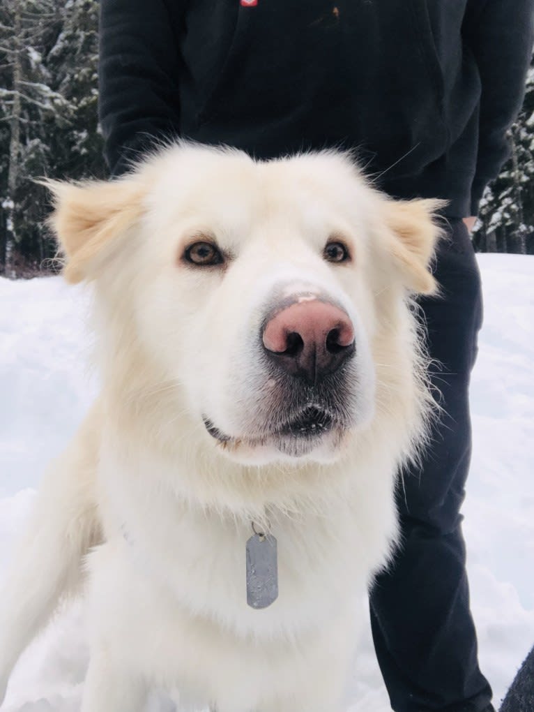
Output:
<svg viewBox="0 0 534 712">
<path fill-rule="evenodd" d="M 151 138 L 178 134 L 178 62 L 165 0 L 100 0 L 99 114 L 113 175 Z"/>
</svg>

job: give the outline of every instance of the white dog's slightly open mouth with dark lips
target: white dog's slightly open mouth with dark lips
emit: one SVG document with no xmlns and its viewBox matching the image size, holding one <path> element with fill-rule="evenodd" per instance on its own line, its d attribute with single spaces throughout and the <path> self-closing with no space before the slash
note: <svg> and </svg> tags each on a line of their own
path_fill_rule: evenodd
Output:
<svg viewBox="0 0 534 712">
<path fill-rule="evenodd" d="M 288 440 L 313 441 L 329 433 L 334 426 L 341 425 L 331 413 L 316 405 L 308 405 L 287 422 L 274 426 L 265 434 L 250 438 L 246 436 L 232 437 L 215 426 L 213 421 L 206 416 L 203 416 L 203 422 L 208 433 L 222 444 L 247 441 L 247 444 L 252 446 L 260 446 L 265 445 L 267 441 L 272 441 L 284 451 L 287 450 L 285 444 Z"/>
</svg>

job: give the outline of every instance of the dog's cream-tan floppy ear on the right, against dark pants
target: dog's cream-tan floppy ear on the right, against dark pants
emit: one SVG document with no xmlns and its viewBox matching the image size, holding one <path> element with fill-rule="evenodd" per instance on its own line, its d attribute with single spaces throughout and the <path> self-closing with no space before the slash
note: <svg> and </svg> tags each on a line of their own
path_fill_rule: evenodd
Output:
<svg viewBox="0 0 534 712">
<path fill-rule="evenodd" d="M 432 294 L 437 282 L 429 270 L 437 241 L 443 230 L 437 224 L 437 212 L 447 204 L 443 200 L 388 200 L 385 219 L 392 240 L 390 250 L 408 289 Z"/>
</svg>

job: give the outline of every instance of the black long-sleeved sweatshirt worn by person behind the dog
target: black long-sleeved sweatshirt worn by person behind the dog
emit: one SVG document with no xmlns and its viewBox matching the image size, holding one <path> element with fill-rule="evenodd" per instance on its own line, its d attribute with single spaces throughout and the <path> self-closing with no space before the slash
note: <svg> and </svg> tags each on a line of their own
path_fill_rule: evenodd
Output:
<svg viewBox="0 0 534 712">
<path fill-rule="evenodd" d="M 534 0 L 101 0 L 113 174 L 149 137 L 356 148 L 378 187 L 476 214 L 508 155 Z"/>
</svg>

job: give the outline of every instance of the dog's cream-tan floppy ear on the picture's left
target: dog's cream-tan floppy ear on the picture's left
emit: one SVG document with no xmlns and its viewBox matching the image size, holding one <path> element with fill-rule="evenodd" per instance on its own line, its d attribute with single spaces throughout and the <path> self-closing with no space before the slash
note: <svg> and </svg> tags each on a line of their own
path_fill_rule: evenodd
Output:
<svg viewBox="0 0 534 712">
<path fill-rule="evenodd" d="M 65 258 L 63 275 L 71 284 L 95 277 L 119 236 L 142 214 L 144 190 L 131 177 L 117 181 L 68 183 L 43 180 L 53 194 L 52 227 Z"/>
</svg>

